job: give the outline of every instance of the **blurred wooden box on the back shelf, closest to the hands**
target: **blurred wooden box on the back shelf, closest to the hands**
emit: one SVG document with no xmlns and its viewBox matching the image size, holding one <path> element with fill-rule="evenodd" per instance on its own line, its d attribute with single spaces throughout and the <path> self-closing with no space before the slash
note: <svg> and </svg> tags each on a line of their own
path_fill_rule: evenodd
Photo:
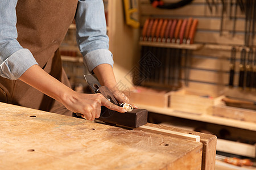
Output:
<svg viewBox="0 0 256 170">
<path fill-rule="evenodd" d="M 137 87 L 127 96 L 131 103 L 152 105 L 155 107 L 168 107 L 168 97 L 171 92 L 155 90 L 146 87 Z"/>
</svg>

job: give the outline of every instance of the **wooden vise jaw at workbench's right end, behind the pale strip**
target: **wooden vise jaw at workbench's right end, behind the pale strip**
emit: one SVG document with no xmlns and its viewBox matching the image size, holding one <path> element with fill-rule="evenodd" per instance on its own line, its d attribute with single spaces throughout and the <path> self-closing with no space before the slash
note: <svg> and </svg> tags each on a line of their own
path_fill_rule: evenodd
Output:
<svg viewBox="0 0 256 170">
<path fill-rule="evenodd" d="M 199 133 L 196 131 L 183 130 L 179 128 L 172 128 L 171 126 L 155 125 L 150 123 L 147 123 L 144 126 L 172 130 L 172 131 L 177 131 L 185 134 L 199 135 L 200 142 L 203 143 L 202 169 L 214 170 L 215 156 L 216 156 L 216 142 L 217 142 L 217 137 L 215 135 Z"/>
</svg>

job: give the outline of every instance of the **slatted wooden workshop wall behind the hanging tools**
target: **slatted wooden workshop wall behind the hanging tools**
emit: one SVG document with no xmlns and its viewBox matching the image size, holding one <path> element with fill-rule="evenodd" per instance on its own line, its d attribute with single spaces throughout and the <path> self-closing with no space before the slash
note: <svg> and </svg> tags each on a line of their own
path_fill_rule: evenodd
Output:
<svg viewBox="0 0 256 170">
<path fill-rule="evenodd" d="M 164 1 L 164 3 L 171 2 L 176 1 Z M 221 31 L 221 1 L 216 1 L 216 5 L 211 6 L 212 11 L 205 0 L 194 0 L 191 4 L 174 10 L 154 8 L 148 0 L 139 1 L 141 32 L 147 18 L 188 19 L 192 17 L 199 20 L 194 44 L 203 44 L 203 46 L 192 50 L 187 90 L 200 91 L 210 96 L 223 94 L 229 84 L 229 65 L 233 46 L 237 49 L 234 86 L 238 86 L 240 50 L 245 45 L 245 12 L 242 12 L 239 6 L 237 7 L 237 19 L 233 29 L 236 6 L 234 4 L 230 6 L 230 1 L 225 2 L 226 9 Z M 250 45 L 253 44 L 255 39 L 250 42 Z M 185 87 L 184 55 L 182 57 L 181 81 Z"/>
</svg>

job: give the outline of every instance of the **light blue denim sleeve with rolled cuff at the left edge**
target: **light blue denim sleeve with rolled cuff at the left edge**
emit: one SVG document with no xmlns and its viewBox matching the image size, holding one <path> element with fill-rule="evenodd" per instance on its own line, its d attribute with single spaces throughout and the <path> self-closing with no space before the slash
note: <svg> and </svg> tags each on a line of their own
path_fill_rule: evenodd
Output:
<svg viewBox="0 0 256 170">
<path fill-rule="evenodd" d="M 32 53 L 16 40 L 17 0 L 0 1 L 0 76 L 18 79 L 29 67 L 38 65 Z"/>
</svg>

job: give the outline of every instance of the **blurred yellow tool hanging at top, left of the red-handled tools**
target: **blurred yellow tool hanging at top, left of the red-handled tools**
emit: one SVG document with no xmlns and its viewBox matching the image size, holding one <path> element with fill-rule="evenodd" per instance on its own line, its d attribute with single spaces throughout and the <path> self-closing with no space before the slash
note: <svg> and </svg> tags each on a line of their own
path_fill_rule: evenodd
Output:
<svg viewBox="0 0 256 170">
<path fill-rule="evenodd" d="M 136 6 L 136 1 L 123 0 L 126 24 L 130 25 L 133 28 L 139 28 L 139 22 L 132 17 L 132 15 L 135 12 L 138 12 L 138 8 L 135 6 Z"/>
</svg>

